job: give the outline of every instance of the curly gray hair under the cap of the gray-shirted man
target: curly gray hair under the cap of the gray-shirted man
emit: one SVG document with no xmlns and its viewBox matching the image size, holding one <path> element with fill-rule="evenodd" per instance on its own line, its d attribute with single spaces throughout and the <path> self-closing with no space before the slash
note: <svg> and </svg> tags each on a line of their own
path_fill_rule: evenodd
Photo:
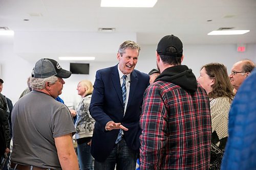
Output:
<svg viewBox="0 0 256 170">
<path fill-rule="evenodd" d="M 32 89 L 38 89 L 38 90 L 45 89 L 46 82 L 49 82 L 50 84 L 54 84 L 57 80 L 58 80 L 58 77 L 56 76 L 51 76 L 44 79 L 30 77 L 30 87 Z"/>
</svg>

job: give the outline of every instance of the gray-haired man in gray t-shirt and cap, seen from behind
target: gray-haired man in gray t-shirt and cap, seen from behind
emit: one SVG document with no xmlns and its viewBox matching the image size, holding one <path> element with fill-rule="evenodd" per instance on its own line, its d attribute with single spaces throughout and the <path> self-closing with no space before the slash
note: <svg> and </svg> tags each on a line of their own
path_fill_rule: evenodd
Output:
<svg viewBox="0 0 256 170">
<path fill-rule="evenodd" d="M 69 109 L 55 98 L 71 72 L 52 59 L 36 62 L 32 92 L 20 98 L 12 112 L 12 169 L 29 166 L 78 170 L 72 136 L 76 132 Z"/>
</svg>

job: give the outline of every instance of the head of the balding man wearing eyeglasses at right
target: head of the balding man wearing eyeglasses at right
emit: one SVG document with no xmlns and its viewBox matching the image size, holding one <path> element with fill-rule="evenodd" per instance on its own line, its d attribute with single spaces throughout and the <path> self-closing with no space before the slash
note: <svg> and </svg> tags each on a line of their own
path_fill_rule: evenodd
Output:
<svg viewBox="0 0 256 170">
<path fill-rule="evenodd" d="M 238 90 L 243 81 L 255 67 L 253 61 L 245 59 L 234 63 L 229 75 L 230 82 L 234 89 Z"/>
</svg>

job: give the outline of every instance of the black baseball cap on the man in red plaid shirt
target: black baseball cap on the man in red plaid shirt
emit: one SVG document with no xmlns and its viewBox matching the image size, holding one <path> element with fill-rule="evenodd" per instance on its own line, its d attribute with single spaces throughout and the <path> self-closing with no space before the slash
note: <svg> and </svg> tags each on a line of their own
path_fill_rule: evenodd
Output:
<svg viewBox="0 0 256 170">
<path fill-rule="evenodd" d="M 173 46 L 177 53 L 167 51 L 167 48 Z M 170 57 L 182 57 L 183 45 L 181 40 L 174 35 L 164 36 L 157 45 L 157 53 L 159 55 L 170 56 Z"/>
</svg>

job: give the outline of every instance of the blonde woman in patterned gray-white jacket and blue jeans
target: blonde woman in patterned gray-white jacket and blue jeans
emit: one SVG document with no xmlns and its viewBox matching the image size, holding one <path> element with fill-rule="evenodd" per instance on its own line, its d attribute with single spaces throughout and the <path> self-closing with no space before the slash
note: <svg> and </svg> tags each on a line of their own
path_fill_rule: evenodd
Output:
<svg viewBox="0 0 256 170">
<path fill-rule="evenodd" d="M 93 85 L 89 80 L 82 80 L 76 89 L 78 95 L 82 97 L 76 109 L 77 120 L 75 123 L 79 167 L 80 170 L 93 169 L 93 157 L 90 150 L 95 120 L 89 113 Z"/>
</svg>

